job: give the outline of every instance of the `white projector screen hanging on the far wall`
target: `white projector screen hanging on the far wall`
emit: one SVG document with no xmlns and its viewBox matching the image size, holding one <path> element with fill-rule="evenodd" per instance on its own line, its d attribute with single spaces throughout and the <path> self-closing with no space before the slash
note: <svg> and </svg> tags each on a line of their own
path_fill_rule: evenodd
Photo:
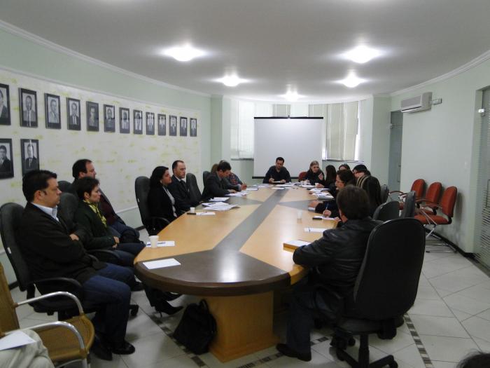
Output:
<svg viewBox="0 0 490 368">
<path fill-rule="evenodd" d="M 254 118 L 253 176 L 265 177 L 284 158 L 291 177 L 309 169 L 311 161 L 321 166 L 321 130 L 323 118 Z"/>
</svg>

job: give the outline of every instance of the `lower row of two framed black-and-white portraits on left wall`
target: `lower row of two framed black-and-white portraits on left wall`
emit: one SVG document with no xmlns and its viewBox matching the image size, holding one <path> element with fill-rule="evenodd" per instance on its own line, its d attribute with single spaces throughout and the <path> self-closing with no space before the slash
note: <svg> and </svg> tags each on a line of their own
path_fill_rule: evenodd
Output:
<svg viewBox="0 0 490 368">
<path fill-rule="evenodd" d="M 20 156 L 22 157 L 22 175 L 39 169 L 38 139 L 20 139 Z M 12 139 L 0 138 L 0 179 L 13 177 L 13 144 Z"/>
</svg>

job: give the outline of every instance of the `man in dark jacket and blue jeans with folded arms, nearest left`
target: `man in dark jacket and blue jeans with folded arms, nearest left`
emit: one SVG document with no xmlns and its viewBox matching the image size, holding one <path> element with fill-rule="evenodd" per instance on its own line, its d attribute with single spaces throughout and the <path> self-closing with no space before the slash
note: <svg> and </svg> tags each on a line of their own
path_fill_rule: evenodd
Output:
<svg viewBox="0 0 490 368">
<path fill-rule="evenodd" d="M 125 341 L 125 334 L 133 273 L 85 252 L 90 234 L 58 213 L 61 191 L 56 178 L 48 170 L 32 170 L 22 178 L 27 205 L 20 220 L 19 244 L 27 267 L 34 280 L 73 278 L 80 282 L 83 306 L 97 308 L 92 320 L 102 342 L 94 348 L 97 356 L 111 360 L 111 353 L 132 354 L 134 346 Z M 55 282 L 37 286 L 43 293 L 59 289 Z"/>
</svg>

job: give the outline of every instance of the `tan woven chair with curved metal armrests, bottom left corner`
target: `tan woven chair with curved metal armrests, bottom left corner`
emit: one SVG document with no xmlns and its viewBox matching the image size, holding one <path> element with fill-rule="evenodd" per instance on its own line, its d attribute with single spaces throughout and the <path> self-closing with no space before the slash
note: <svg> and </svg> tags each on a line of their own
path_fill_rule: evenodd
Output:
<svg viewBox="0 0 490 368">
<path fill-rule="evenodd" d="M 94 326 L 83 313 L 80 301 L 68 292 L 56 292 L 41 295 L 33 299 L 15 302 L 10 294 L 3 266 L 0 264 L 0 338 L 20 329 L 19 320 L 15 308 L 23 304 L 31 304 L 52 297 L 64 297 L 72 299 L 78 307 L 78 315 L 64 322 L 45 322 L 29 329 L 34 330 L 43 345 L 48 349 L 50 360 L 56 365 L 81 360 L 82 367 L 87 368 L 87 356 L 94 342 Z"/>
</svg>

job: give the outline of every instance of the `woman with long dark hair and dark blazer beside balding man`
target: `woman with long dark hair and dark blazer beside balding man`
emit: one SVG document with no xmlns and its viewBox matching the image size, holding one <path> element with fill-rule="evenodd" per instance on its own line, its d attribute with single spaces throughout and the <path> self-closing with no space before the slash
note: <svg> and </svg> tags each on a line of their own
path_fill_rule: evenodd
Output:
<svg viewBox="0 0 490 368">
<path fill-rule="evenodd" d="M 152 217 L 163 217 L 168 222 L 174 221 L 182 213 L 168 189 L 171 183 L 169 168 L 157 166 L 151 173 L 148 210 Z M 161 222 L 158 227 L 163 229 L 165 225 L 165 222 Z"/>
</svg>

